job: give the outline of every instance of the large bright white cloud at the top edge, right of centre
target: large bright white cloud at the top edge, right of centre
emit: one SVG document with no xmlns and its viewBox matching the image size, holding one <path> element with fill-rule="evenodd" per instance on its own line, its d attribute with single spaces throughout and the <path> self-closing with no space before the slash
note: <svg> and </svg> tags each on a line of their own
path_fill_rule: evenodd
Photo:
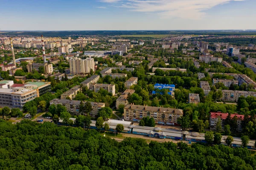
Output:
<svg viewBox="0 0 256 170">
<path fill-rule="evenodd" d="M 198 20 L 205 16 L 207 9 L 230 1 L 243 0 L 126 0 L 119 6 L 136 12 L 155 12 L 160 17 Z"/>
</svg>

